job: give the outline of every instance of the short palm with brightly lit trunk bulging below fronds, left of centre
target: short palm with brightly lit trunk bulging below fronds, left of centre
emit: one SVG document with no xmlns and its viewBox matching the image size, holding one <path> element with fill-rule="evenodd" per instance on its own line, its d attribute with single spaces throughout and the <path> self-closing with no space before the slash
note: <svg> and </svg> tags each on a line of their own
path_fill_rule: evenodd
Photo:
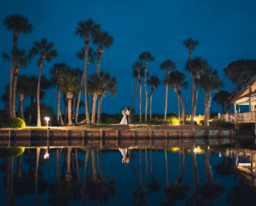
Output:
<svg viewBox="0 0 256 206">
<path fill-rule="evenodd" d="M 83 72 L 79 68 L 72 69 L 70 66 L 67 67 L 64 74 L 63 86 L 67 92 L 68 100 L 68 125 L 72 125 L 71 111 L 72 111 L 72 98 L 75 92 L 81 90 L 80 80 L 82 78 Z"/>
</svg>

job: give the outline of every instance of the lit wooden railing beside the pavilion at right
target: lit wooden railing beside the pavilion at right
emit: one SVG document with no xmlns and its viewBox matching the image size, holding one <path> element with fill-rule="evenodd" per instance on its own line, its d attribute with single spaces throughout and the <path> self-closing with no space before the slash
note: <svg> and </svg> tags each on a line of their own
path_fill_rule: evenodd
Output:
<svg viewBox="0 0 256 206">
<path fill-rule="evenodd" d="M 230 123 L 255 123 L 255 112 L 243 112 L 236 114 L 221 114 L 218 119 Z"/>
</svg>

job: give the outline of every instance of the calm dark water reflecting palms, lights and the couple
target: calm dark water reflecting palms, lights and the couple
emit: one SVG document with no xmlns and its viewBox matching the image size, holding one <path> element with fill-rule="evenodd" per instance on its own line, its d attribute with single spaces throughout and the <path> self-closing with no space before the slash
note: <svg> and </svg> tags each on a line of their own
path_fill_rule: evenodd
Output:
<svg viewBox="0 0 256 206">
<path fill-rule="evenodd" d="M 255 205 L 254 140 L 80 141 L 2 140 L 1 205 Z"/>
</svg>

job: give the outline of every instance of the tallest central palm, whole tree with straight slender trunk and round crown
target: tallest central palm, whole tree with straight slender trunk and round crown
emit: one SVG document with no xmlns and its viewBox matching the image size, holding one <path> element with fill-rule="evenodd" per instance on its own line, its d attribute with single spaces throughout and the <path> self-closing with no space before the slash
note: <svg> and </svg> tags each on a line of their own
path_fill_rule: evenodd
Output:
<svg viewBox="0 0 256 206">
<path fill-rule="evenodd" d="M 91 123 L 89 117 L 89 101 L 88 101 L 88 82 L 87 82 L 87 70 L 88 70 L 88 60 L 89 60 L 89 43 L 91 42 L 91 37 L 95 35 L 97 31 L 99 31 L 100 25 L 96 24 L 93 20 L 89 19 L 84 22 L 79 22 L 78 27 L 76 29 L 76 35 L 84 38 L 85 49 L 84 49 L 84 91 L 85 91 L 85 110 L 86 110 L 86 119 L 87 123 Z"/>
</svg>

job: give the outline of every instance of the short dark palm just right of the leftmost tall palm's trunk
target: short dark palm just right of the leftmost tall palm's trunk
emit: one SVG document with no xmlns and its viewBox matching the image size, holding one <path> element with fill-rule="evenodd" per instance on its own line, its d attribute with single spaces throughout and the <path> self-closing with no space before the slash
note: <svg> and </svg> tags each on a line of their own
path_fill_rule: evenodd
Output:
<svg viewBox="0 0 256 206">
<path fill-rule="evenodd" d="M 24 113 L 23 113 L 23 100 L 25 96 L 28 96 L 28 83 L 29 82 L 29 77 L 27 75 L 20 75 L 18 78 L 18 83 L 17 83 L 17 89 L 18 89 L 18 99 L 19 99 L 19 117 L 24 119 Z"/>
</svg>

